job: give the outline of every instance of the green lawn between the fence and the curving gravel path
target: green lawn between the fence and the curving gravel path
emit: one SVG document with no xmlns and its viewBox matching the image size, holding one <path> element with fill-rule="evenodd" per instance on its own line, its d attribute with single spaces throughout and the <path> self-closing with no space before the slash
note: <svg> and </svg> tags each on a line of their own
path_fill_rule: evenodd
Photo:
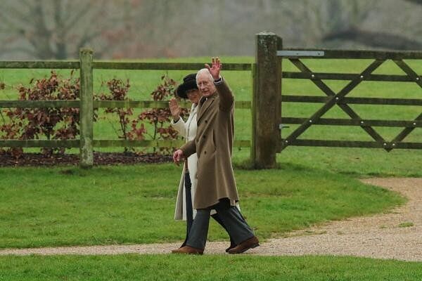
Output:
<svg viewBox="0 0 422 281">
<path fill-rule="evenodd" d="M 0 169 L 0 248 L 184 239 L 174 221 L 174 164 Z M 385 211 L 399 195 L 327 171 L 236 169 L 243 214 L 262 239 L 314 223 Z M 210 240 L 226 240 L 214 223 Z"/>
</svg>

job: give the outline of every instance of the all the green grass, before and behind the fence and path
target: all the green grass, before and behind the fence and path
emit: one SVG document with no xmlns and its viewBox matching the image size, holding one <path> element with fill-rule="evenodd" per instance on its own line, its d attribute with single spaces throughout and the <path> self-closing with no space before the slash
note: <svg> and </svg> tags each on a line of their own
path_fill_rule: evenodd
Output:
<svg viewBox="0 0 422 281">
<path fill-rule="evenodd" d="M 178 58 L 172 62 L 205 62 L 210 58 Z M 252 63 L 253 58 L 222 58 L 222 63 Z M 314 72 L 359 73 L 370 60 L 304 60 Z M 422 73 L 422 62 L 407 60 Z M 283 70 L 297 71 L 287 60 Z M 70 70 L 59 70 L 67 77 Z M 162 74 L 177 81 L 186 71 L 95 70 L 94 91 L 106 91 L 102 81 L 129 79 L 129 97 L 148 100 Z M 387 61 L 377 74 L 403 74 Z M 0 70 L 0 99 L 16 98 L 14 89 L 49 70 Z M 236 100 L 250 100 L 250 72 L 223 72 Z M 339 91 L 347 81 L 326 81 Z M 307 80 L 283 79 L 283 94 L 325 96 Z M 352 97 L 421 98 L 412 83 L 364 81 Z M 283 103 L 284 117 L 309 117 L 322 104 Z M 414 119 L 417 106 L 351 105 L 367 119 Z M 338 108 L 324 117 L 348 118 Z M 117 138 L 116 119 L 100 116 L 95 138 Z M 113 124 L 113 126 L 112 126 Z M 249 140 L 250 110 L 236 110 L 236 139 Z M 295 126 L 283 129 L 282 136 Z M 399 128 L 375 128 L 387 140 Z M 359 127 L 312 126 L 301 138 L 371 141 Z M 415 129 L 405 141 L 421 142 Z M 100 149 L 96 149 L 100 150 Z M 37 150 L 31 150 L 37 151 Z M 122 148 L 101 149 L 122 151 Z M 72 152 L 77 152 L 73 150 Z M 364 185 L 368 176 L 422 176 L 421 150 L 288 147 L 277 155 L 279 169 L 249 171 L 250 150 L 234 150 L 241 208 L 261 239 L 279 237 L 315 223 L 388 211 L 405 199 L 387 190 Z M 2 168 L 0 175 L 0 248 L 59 245 L 170 242 L 184 238 L 184 223 L 173 220 L 181 169 L 173 164 L 101 166 L 81 170 Z M 210 240 L 226 240 L 215 224 Z M 212 265 L 212 266 L 210 266 Z M 421 280 L 421 263 L 350 257 L 259 256 L 0 256 L 0 280 Z"/>
</svg>

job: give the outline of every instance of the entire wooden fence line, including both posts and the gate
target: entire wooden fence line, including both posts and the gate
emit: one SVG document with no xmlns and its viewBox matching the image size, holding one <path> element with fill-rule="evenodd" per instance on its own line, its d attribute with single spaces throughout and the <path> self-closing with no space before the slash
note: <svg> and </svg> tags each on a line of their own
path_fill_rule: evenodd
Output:
<svg viewBox="0 0 422 281">
<path fill-rule="evenodd" d="M 81 166 L 92 166 L 94 147 L 177 147 L 183 141 L 124 141 L 97 140 L 93 133 L 94 109 L 101 107 L 168 107 L 167 102 L 151 100 L 94 100 L 93 71 L 101 70 L 198 70 L 202 63 L 135 63 L 95 61 L 90 49 L 82 48 L 78 60 L 63 61 L 0 61 L 0 68 L 6 69 L 79 69 L 81 81 L 80 100 L 1 100 L 1 107 L 79 107 L 79 140 L 0 140 L 0 147 L 66 147 L 80 149 Z M 298 72 L 283 72 L 282 58 L 290 60 Z M 302 58 L 324 59 L 365 59 L 370 60 L 368 67 L 360 73 L 312 72 Z M 250 147 L 250 157 L 255 168 L 276 166 L 276 153 L 289 145 L 331 146 L 350 148 L 395 148 L 422 149 L 422 143 L 404 143 L 411 131 L 422 127 L 421 115 L 413 120 L 363 119 L 350 104 L 364 105 L 422 105 L 422 98 L 352 98 L 348 97 L 362 81 L 414 82 L 422 87 L 421 75 L 407 65 L 404 60 L 421 60 L 422 51 L 317 51 L 305 48 L 283 48 L 282 40 L 271 32 L 260 32 L 255 37 L 255 63 L 225 63 L 224 70 L 248 71 L 252 77 L 251 101 L 236 101 L 236 108 L 250 109 L 252 115 L 252 138 L 236 140 L 237 147 Z M 404 74 L 373 74 L 385 61 L 392 60 Z M 308 79 L 326 96 L 282 95 L 283 79 Z M 324 80 L 350 81 L 338 92 L 333 91 Z M 308 118 L 281 117 L 283 103 L 322 103 L 319 110 Z M 188 107 L 187 103 L 182 106 Z M 350 118 L 321 118 L 333 107 L 340 107 Z M 281 137 L 282 124 L 299 124 L 289 136 Z M 373 138 L 373 141 L 331 141 L 310 140 L 299 137 L 310 126 L 360 126 Z M 374 126 L 403 127 L 404 129 L 391 141 L 373 129 Z"/>
</svg>

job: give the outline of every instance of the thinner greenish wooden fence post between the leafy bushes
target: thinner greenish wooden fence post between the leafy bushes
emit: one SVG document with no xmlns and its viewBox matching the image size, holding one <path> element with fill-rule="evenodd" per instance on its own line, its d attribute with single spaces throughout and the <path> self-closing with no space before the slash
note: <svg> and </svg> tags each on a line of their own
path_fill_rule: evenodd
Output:
<svg viewBox="0 0 422 281">
<path fill-rule="evenodd" d="M 94 96 L 93 96 L 93 75 L 92 75 L 92 53 L 90 48 L 79 50 L 80 61 L 80 146 L 79 165 L 89 168 L 94 164 L 94 153 L 92 139 L 94 136 Z"/>
</svg>

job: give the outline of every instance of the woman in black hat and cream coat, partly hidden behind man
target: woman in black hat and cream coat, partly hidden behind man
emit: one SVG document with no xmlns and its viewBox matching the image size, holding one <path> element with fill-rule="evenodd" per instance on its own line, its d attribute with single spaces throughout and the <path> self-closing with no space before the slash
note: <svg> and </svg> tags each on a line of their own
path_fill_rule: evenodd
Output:
<svg viewBox="0 0 422 281">
<path fill-rule="evenodd" d="M 185 141 L 192 141 L 196 136 L 196 116 L 198 110 L 198 103 L 200 100 L 200 92 L 198 91 L 198 86 L 196 85 L 196 73 L 188 74 L 183 79 L 183 83 L 180 84 L 176 89 L 176 94 L 180 98 L 188 98 L 191 100 L 191 112 L 189 114 L 188 119 L 184 122 L 183 119 L 180 117 L 180 107 L 177 104 L 177 100 L 172 98 L 170 100 L 170 111 L 172 112 L 173 120 L 171 122 L 172 126 L 176 131 L 178 131 L 181 136 L 184 137 Z M 198 156 L 196 153 L 189 156 L 187 159 L 187 168 L 189 171 L 189 176 L 191 178 L 191 198 L 195 198 L 195 191 L 196 191 L 196 167 L 198 162 Z M 183 220 L 186 221 L 186 190 L 184 187 L 184 176 L 185 176 L 185 169 L 186 164 L 184 165 L 183 171 L 181 173 L 181 180 L 179 183 L 179 190 L 177 192 L 177 202 L 176 202 L 176 209 L 174 211 L 174 219 L 175 220 Z M 192 207 L 191 207 L 192 208 Z M 195 218 L 196 210 L 193 209 L 193 218 Z M 216 211 L 212 210 L 211 212 L 212 218 L 217 221 L 223 228 L 226 228 L 222 223 L 221 219 L 219 218 Z M 186 233 L 186 240 L 188 238 L 188 233 Z M 183 247 L 186 244 L 185 242 L 182 244 Z M 236 244 L 230 237 L 230 247 L 229 249 L 236 247 Z"/>
</svg>

